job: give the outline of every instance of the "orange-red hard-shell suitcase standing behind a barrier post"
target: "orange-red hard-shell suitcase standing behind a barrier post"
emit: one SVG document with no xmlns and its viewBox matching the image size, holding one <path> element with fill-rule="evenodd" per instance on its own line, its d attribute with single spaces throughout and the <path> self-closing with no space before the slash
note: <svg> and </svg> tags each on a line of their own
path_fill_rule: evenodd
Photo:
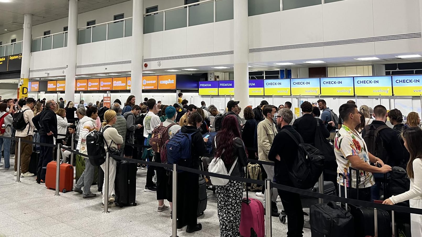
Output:
<svg viewBox="0 0 422 237">
<path fill-rule="evenodd" d="M 47 164 L 46 187 L 56 189 L 56 161 Z M 70 164 L 60 164 L 60 191 L 62 193 L 72 191 L 73 189 L 73 166 Z"/>
</svg>

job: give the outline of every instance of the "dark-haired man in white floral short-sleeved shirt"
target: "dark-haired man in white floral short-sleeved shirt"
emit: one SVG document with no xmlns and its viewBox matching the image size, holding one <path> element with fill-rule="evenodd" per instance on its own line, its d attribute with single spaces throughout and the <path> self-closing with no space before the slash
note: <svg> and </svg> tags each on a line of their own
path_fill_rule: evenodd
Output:
<svg viewBox="0 0 422 237">
<path fill-rule="evenodd" d="M 354 129 L 360 124 L 360 114 L 355 104 L 347 103 L 340 106 L 339 114 L 343 118 L 343 125 L 338 131 L 334 140 L 335 158 L 337 160 L 337 173 L 346 176 L 348 188 L 348 198 L 357 199 L 356 172 L 350 174 L 349 167 L 359 169 L 359 199 L 371 201 L 371 186 L 375 184 L 372 173 L 387 173 L 391 171 L 391 166 L 385 165 L 379 158 L 368 152 L 365 141 Z M 371 166 L 371 163 L 380 164 L 381 167 Z M 351 176 L 350 176 L 351 175 Z M 349 180 L 349 179 L 352 180 Z M 343 178 L 338 178 L 337 182 L 344 185 Z M 344 196 L 344 188 L 340 190 Z"/>
</svg>

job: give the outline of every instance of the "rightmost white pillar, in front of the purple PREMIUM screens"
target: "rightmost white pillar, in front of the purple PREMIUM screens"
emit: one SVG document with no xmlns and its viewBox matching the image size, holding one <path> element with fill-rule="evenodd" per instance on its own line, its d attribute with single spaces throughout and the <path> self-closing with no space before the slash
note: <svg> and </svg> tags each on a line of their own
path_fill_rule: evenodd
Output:
<svg viewBox="0 0 422 237">
<path fill-rule="evenodd" d="M 249 105 L 249 42 L 248 42 L 248 1 L 234 0 L 234 81 L 235 100 L 243 109 Z M 227 104 L 226 104 L 227 106 Z"/>
</svg>

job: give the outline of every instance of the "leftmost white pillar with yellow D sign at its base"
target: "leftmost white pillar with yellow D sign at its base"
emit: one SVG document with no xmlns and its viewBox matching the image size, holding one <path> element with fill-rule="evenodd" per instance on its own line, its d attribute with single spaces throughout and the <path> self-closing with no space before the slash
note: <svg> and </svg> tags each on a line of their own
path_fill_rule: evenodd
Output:
<svg viewBox="0 0 422 237">
<path fill-rule="evenodd" d="M 32 14 L 24 14 L 24 35 L 22 42 L 21 81 L 19 82 L 18 98 L 28 96 L 29 67 L 31 62 L 32 44 Z"/>
</svg>

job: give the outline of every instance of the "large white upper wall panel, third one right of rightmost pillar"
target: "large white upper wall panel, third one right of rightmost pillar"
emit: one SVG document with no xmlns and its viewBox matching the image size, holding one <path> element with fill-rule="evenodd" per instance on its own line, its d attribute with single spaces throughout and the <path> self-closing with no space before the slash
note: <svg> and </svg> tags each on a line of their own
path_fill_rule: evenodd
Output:
<svg viewBox="0 0 422 237">
<path fill-rule="evenodd" d="M 373 37 L 371 0 L 347 0 L 322 5 L 324 41 Z"/>
</svg>

